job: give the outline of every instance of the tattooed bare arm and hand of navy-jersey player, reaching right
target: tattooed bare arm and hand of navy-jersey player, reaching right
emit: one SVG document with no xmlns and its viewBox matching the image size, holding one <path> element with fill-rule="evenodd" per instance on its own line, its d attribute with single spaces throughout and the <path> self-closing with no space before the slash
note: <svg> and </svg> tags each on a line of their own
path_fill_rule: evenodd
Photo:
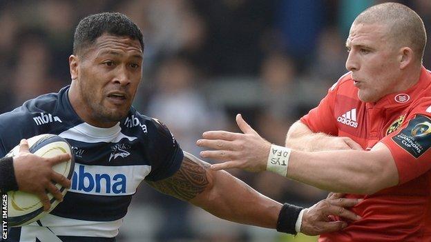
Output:
<svg viewBox="0 0 431 242">
<path fill-rule="evenodd" d="M 208 163 L 185 153 L 180 170 L 172 177 L 162 181 L 147 182 L 160 192 L 189 201 L 222 219 L 285 230 L 280 228 L 282 225 L 277 224 L 282 204 L 256 192 L 231 174 L 211 170 L 209 167 Z M 320 201 L 303 213 L 301 232 L 312 235 L 345 228 L 347 223 L 329 222 L 327 216 L 334 214 L 356 220 L 358 219 L 356 214 L 343 209 L 356 203 L 358 203 L 356 199 Z M 283 212 L 289 211 L 283 210 Z M 295 224 L 297 217 L 298 214 L 284 214 L 282 220 L 291 220 Z"/>
</svg>

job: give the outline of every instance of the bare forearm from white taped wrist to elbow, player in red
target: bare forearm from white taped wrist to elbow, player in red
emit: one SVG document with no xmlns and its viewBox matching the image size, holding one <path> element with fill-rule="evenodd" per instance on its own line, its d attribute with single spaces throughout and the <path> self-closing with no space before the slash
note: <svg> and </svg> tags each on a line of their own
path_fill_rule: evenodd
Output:
<svg viewBox="0 0 431 242">
<path fill-rule="evenodd" d="M 387 152 L 293 150 L 287 177 L 332 192 L 372 194 L 398 183 L 396 165 L 388 161 Z"/>
</svg>

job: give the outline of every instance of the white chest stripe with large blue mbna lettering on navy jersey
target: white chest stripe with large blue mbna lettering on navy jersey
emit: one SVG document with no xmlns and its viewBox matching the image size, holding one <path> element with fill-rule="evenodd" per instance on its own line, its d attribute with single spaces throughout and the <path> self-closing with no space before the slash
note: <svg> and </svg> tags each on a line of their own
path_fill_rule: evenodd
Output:
<svg viewBox="0 0 431 242">
<path fill-rule="evenodd" d="M 123 196 L 135 194 L 137 186 L 151 172 L 151 165 L 84 165 L 75 163 L 68 192 Z"/>
</svg>

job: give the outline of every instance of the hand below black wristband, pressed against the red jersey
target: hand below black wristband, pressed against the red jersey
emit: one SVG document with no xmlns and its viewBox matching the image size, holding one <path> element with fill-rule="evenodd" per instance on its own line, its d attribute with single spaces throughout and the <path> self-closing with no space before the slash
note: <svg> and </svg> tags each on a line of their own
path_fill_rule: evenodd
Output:
<svg viewBox="0 0 431 242">
<path fill-rule="evenodd" d="M 303 214 L 300 232 L 307 235 L 318 235 L 343 230 L 346 221 L 334 221 L 332 217 L 340 216 L 347 221 L 356 221 L 361 216 L 345 209 L 360 203 L 362 199 L 343 199 L 343 194 L 329 194 L 328 198 L 314 204 Z"/>
</svg>

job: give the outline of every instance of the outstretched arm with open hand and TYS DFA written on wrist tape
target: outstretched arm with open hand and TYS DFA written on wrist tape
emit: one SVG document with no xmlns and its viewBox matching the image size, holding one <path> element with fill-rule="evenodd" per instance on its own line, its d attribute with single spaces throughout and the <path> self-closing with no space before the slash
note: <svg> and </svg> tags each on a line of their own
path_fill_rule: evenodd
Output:
<svg viewBox="0 0 431 242">
<path fill-rule="evenodd" d="M 211 165 L 212 169 L 271 170 L 316 188 L 352 194 L 372 194 L 399 182 L 392 154 L 383 143 L 377 143 L 367 152 L 285 150 L 274 148 L 242 117 L 237 116 L 237 123 L 243 133 L 209 131 L 204 133 L 204 139 L 197 141 L 199 146 L 214 149 L 200 152 L 201 157 L 224 161 Z M 280 170 L 272 170 L 274 167 Z"/>
</svg>

